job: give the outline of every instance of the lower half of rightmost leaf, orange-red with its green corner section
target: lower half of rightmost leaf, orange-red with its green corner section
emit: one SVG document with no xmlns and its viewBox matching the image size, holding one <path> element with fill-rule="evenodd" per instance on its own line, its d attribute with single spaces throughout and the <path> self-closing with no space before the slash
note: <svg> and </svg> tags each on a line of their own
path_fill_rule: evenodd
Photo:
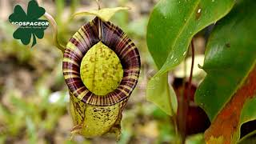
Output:
<svg viewBox="0 0 256 144">
<path fill-rule="evenodd" d="M 242 123 L 256 119 L 255 99 L 256 66 L 206 130 L 206 142 L 237 143 Z"/>
</svg>

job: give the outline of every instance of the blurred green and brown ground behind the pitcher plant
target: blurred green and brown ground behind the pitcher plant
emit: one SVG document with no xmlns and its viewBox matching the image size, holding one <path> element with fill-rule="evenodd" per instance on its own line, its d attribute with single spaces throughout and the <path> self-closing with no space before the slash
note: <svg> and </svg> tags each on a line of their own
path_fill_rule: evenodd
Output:
<svg viewBox="0 0 256 144">
<path fill-rule="evenodd" d="M 149 10 L 142 14 L 141 6 L 145 3 Z M 116 14 L 111 22 L 121 27 L 138 46 L 142 56 L 142 74 L 138 88 L 123 112 L 122 138 L 118 143 L 174 142 L 175 130 L 170 117 L 154 104 L 146 102 L 145 98 L 149 71 L 155 67 L 145 40 L 149 12 L 154 2 L 102 1 L 102 7 L 126 5 L 132 10 Z M 42 6 L 54 14 L 59 40 L 63 44 L 91 19 L 72 19 L 70 16 L 78 9 L 97 7 L 93 0 L 43 1 Z M 13 9 L 12 5 L 10 9 Z M 33 49 L 12 38 L 15 29 L 7 19 L 0 19 L 0 143 L 115 143 L 112 136 L 90 139 L 76 136 L 70 141 L 73 124 L 69 115 L 69 96 L 62 77 L 62 54 L 52 45 L 51 27 Z M 194 139 L 201 142 L 202 134 Z"/>
</svg>

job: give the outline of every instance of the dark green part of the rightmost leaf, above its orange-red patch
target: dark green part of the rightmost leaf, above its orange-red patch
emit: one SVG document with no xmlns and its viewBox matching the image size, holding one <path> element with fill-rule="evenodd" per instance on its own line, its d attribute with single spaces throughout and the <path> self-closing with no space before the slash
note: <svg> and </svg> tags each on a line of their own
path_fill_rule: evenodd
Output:
<svg viewBox="0 0 256 144">
<path fill-rule="evenodd" d="M 251 3 L 250 3 L 251 2 Z M 211 121 L 241 86 L 256 60 L 256 6 L 252 0 L 238 6 L 214 28 L 206 46 L 203 70 L 207 76 L 198 87 L 196 102 Z"/>
</svg>

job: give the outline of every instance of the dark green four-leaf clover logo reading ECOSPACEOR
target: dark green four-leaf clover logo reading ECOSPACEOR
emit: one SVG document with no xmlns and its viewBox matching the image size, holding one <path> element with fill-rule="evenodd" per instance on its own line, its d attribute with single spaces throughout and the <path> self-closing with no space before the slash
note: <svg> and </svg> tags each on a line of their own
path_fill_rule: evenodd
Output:
<svg viewBox="0 0 256 144">
<path fill-rule="evenodd" d="M 38 6 L 38 2 L 35 0 L 29 2 L 26 12 L 22 6 L 15 6 L 14 13 L 9 17 L 10 23 L 18 26 L 14 32 L 14 38 L 20 39 L 24 45 L 28 45 L 32 37 L 31 47 L 33 47 L 37 43 L 37 38 L 43 38 L 44 30 L 49 26 L 47 20 L 39 19 L 45 13 L 46 10 Z"/>
</svg>

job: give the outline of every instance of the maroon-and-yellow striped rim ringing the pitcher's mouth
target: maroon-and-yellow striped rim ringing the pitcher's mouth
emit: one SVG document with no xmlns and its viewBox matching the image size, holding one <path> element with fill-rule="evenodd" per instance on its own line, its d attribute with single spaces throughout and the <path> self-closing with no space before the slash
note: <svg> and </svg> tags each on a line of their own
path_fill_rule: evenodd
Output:
<svg viewBox="0 0 256 144">
<path fill-rule="evenodd" d="M 101 30 L 101 34 L 99 34 L 99 30 Z M 80 75 L 82 58 L 98 42 L 102 42 L 118 55 L 123 69 L 122 81 L 118 88 L 104 96 L 88 90 Z M 138 82 L 141 62 L 134 42 L 118 26 L 114 26 L 111 22 L 102 22 L 97 17 L 82 26 L 70 38 L 64 58 L 66 61 L 62 62 L 62 69 L 70 93 L 90 105 L 111 106 L 121 102 L 130 97 Z"/>
</svg>

